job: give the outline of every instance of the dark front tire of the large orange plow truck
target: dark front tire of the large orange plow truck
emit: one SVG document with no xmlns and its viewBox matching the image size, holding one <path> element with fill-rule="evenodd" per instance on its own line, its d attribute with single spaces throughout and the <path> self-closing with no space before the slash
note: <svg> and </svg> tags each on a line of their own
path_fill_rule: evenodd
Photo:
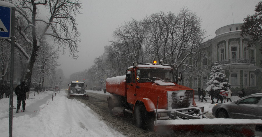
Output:
<svg viewBox="0 0 262 137">
<path fill-rule="evenodd" d="M 134 123 L 144 130 L 153 130 L 154 113 L 147 112 L 144 105 L 138 105 L 134 111 Z"/>
</svg>

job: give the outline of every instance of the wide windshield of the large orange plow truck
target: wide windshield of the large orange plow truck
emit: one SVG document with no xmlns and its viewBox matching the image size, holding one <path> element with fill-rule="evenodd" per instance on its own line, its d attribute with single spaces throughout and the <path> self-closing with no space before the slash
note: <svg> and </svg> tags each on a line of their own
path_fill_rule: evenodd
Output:
<svg viewBox="0 0 262 137">
<path fill-rule="evenodd" d="M 161 80 L 163 82 L 174 82 L 173 71 L 164 68 L 139 68 L 137 70 L 139 76 L 138 82 L 153 82 Z"/>
</svg>

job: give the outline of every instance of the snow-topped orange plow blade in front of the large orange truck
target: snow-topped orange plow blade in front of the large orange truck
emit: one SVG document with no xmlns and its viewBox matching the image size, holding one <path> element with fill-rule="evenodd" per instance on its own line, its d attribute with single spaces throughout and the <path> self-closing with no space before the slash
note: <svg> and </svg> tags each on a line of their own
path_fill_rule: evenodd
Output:
<svg viewBox="0 0 262 137">
<path fill-rule="evenodd" d="M 154 131 L 233 131 L 252 137 L 255 136 L 256 125 L 261 125 L 262 120 L 214 118 L 195 120 L 156 120 L 154 123 Z"/>
</svg>

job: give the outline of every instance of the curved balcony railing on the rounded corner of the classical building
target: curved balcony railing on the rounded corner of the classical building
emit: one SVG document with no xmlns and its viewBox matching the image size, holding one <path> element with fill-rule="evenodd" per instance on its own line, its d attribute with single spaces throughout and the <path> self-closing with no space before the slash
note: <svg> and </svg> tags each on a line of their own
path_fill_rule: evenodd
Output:
<svg viewBox="0 0 262 137">
<path fill-rule="evenodd" d="M 225 60 L 219 60 L 217 61 L 219 65 L 224 65 L 224 64 L 256 64 L 255 59 L 225 59 Z M 214 63 L 212 63 L 212 66 L 214 66 Z"/>
</svg>

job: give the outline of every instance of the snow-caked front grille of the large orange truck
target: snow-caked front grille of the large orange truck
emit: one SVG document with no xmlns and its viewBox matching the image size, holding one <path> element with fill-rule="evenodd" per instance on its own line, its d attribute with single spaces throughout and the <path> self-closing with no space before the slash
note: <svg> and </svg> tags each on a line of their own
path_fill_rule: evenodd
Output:
<svg viewBox="0 0 262 137">
<path fill-rule="evenodd" d="M 168 109 L 193 107 L 193 91 L 167 91 Z"/>
</svg>

